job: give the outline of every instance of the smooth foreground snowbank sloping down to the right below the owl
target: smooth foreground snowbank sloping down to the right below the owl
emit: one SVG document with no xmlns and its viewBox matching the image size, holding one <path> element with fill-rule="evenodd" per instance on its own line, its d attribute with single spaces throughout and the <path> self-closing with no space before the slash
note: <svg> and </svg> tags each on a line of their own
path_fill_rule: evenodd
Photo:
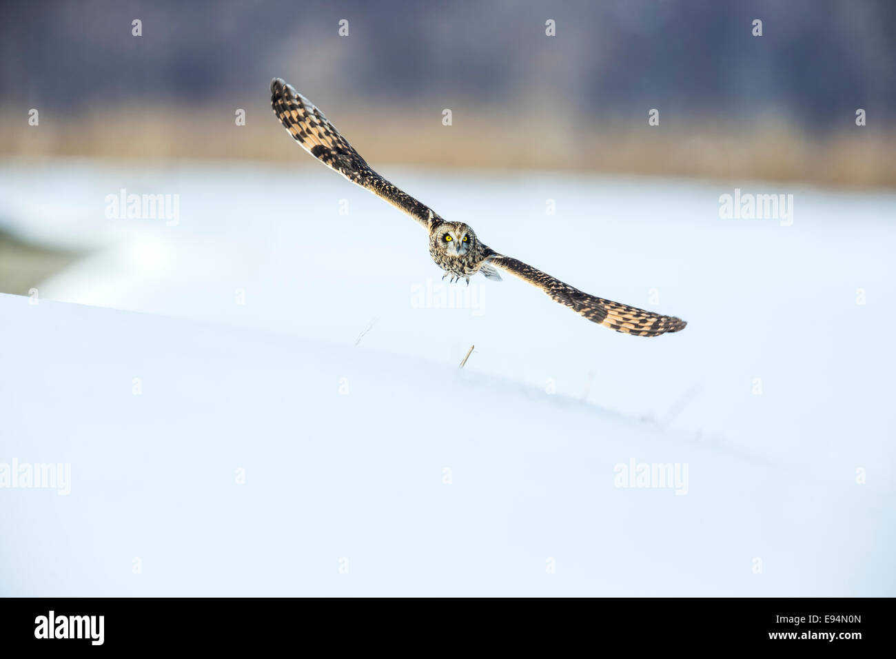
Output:
<svg viewBox="0 0 896 659">
<path fill-rule="evenodd" d="M 9 295 L 0 326 L 0 463 L 72 474 L 0 489 L 0 594 L 894 593 L 889 449 L 857 485 L 830 453 L 660 429 L 477 353 Z M 631 460 L 686 464 L 686 491 L 616 487 Z"/>
</svg>

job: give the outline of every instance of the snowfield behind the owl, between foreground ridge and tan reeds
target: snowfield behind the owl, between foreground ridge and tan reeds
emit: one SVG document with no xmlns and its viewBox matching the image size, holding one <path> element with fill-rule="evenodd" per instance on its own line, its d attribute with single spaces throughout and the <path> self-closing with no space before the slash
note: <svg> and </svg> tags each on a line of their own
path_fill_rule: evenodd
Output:
<svg viewBox="0 0 896 659">
<path fill-rule="evenodd" d="M 896 385 L 883 368 L 896 350 L 882 329 L 894 319 L 896 195 L 737 183 L 794 194 L 793 225 L 781 227 L 719 219 L 719 195 L 734 184 L 383 170 L 445 217 L 470 221 L 490 246 L 689 323 L 638 341 L 513 278 L 474 278 L 460 308 L 446 308 L 467 291 L 441 282 L 418 225 L 305 156 L 296 150 L 294 171 L 8 163 L 0 222 L 95 249 L 35 282 L 43 299 L 346 345 L 373 324 L 367 347 L 444 365 L 475 343 L 476 368 L 495 377 L 587 395 L 794 468 L 830 453 L 896 473 L 892 453 L 882 460 L 878 451 L 896 425 Z M 179 195 L 177 226 L 107 219 L 104 199 L 121 188 Z M 546 214 L 547 199 L 556 215 Z"/>
</svg>

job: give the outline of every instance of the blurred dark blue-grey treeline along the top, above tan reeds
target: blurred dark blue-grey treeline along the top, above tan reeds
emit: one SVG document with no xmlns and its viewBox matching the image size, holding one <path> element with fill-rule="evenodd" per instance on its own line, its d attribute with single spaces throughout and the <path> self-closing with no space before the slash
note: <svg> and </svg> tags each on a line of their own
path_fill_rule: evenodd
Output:
<svg viewBox="0 0 896 659">
<path fill-rule="evenodd" d="M 324 100 L 481 100 L 525 113 L 692 120 L 782 117 L 869 127 L 896 108 L 896 2 L 27 2 L 0 4 L 4 106 L 75 112 L 264 93 L 272 75 Z M 132 22 L 142 22 L 142 36 Z M 348 37 L 338 34 L 348 21 Z M 546 21 L 556 36 L 546 36 Z M 752 34 L 762 20 L 762 37 Z M 543 114 L 544 108 L 539 108 Z M 668 115 L 667 115 L 668 116 Z"/>
</svg>

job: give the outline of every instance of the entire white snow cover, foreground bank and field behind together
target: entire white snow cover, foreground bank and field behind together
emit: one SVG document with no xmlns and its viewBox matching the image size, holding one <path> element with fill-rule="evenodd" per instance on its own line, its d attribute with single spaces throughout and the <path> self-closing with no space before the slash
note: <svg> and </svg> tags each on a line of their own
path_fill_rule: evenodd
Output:
<svg viewBox="0 0 896 659">
<path fill-rule="evenodd" d="M 92 252 L 0 297 L 0 486 L 71 465 L 67 495 L 0 487 L 0 592 L 896 594 L 896 196 L 737 183 L 793 194 L 781 226 L 719 219 L 735 184 L 383 174 L 689 325 L 449 286 L 314 162 L 7 162 L 0 225 Z M 175 225 L 106 217 L 121 188 L 178 195 Z"/>
</svg>

